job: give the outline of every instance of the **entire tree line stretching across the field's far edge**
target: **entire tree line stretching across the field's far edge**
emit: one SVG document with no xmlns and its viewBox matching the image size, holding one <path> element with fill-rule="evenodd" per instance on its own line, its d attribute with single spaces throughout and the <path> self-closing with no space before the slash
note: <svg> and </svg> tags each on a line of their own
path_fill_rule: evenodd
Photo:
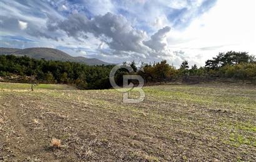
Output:
<svg viewBox="0 0 256 162">
<path fill-rule="evenodd" d="M 135 61 L 123 63 L 131 66 L 132 74 L 139 74 L 146 83 L 175 81 L 182 78 L 212 77 L 234 78 L 250 81 L 256 80 L 255 56 L 247 52 L 219 53 L 212 60 L 207 60 L 205 66 L 189 67 L 188 61 L 183 61 L 179 69 L 169 65 L 166 60 L 159 63 L 142 64 L 135 66 Z M 0 76 L 34 76 L 39 83 L 74 84 L 79 89 L 108 89 L 109 73 L 115 65 L 89 66 L 69 61 L 35 60 L 28 56 L 1 55 Z M 143 67 L 143 71 L 140 70 Z M 122 86 L 122 76 L 129 74 L 126 69 L 118 70 L 115 76 L 116 83 Z"/>
</svg>

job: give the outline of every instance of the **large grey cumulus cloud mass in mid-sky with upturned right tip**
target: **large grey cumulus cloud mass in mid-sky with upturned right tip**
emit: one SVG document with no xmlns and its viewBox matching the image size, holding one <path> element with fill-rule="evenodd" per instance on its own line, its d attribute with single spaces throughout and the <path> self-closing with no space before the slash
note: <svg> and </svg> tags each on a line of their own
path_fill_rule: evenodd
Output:
<svg viewBox="0 0 256 162">
<path fill-rule="evenodd" d="M 103 16 L 88 19 L 82 14 L 72 14 L 66 20 L 54 22 L 49 17 L 47 29 L 64 31 L 69 37 L 84 40 L 82 35 L 92 34 L 101 41 L 97 50 L 103 56 L 126 56 L 130 59 L 166 59 L 172 56 L 166 50 L 166 35 L 170 27 L 159 29 L 149 40 L 147 32 L 132 27 L 121 15 L 107 12 Z"/>
</svg>

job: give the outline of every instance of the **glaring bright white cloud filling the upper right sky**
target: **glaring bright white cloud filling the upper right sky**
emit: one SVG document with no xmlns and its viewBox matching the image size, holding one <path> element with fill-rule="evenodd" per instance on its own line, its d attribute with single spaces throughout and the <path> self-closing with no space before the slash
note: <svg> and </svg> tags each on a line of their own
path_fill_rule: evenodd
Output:
<svg viewBox="0 0 256 162">
<path fill-rule="evenodd" d="M 185 30 L 172 30 L 168 48 L 182 50 L 187 60 L 204 65 L 219 52 L 255 50 L 255 1 L 225 0 L 203 14 Z M 195 57 L 200 55 L 200 58 Z"/>
</svg>

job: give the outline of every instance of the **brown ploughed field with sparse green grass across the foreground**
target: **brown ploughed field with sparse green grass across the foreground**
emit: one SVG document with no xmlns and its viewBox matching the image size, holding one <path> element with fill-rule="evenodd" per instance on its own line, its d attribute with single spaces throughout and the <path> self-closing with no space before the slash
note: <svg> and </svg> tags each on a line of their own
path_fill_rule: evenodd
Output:
<svg viewBox="0 0 256 162">
<path fill-rule="evenodd" d="M 256 161 L 256 86 L 144 91 L 0 83 L 0 161 Z"/>
</svg>

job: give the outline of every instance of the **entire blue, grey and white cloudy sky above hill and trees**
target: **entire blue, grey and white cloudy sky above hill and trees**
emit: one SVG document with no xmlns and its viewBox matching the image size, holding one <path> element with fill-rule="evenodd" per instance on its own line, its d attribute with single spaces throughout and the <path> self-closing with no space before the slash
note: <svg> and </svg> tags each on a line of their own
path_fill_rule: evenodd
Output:
<svg viewBox="0 0 256 162">
<path fill-rule="evenodd" d="M 73 56 L 204 65 L 229 50 L 256 54 L 255 0 L 1 0 L 1 47 Z"/>
</svg>

